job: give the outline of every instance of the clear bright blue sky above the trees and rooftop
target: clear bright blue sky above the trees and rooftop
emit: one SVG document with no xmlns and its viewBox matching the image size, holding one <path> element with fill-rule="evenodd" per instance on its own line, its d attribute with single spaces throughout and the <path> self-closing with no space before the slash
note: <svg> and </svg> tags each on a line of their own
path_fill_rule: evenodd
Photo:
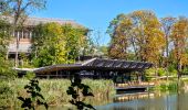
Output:
<svg viewBox="0 0 188 110">
<path fill-rule="evenodd" d="M 109 22 L 119 13 L 136 10 L 154 11 L 158 18 L 188 16 L 188 0 L 48 0 L 46 9 L 31 16 L 74 20 L 93 30 L 93 37 L 100 35 L 101 45 L 107 45 Z"/>
</svg>

